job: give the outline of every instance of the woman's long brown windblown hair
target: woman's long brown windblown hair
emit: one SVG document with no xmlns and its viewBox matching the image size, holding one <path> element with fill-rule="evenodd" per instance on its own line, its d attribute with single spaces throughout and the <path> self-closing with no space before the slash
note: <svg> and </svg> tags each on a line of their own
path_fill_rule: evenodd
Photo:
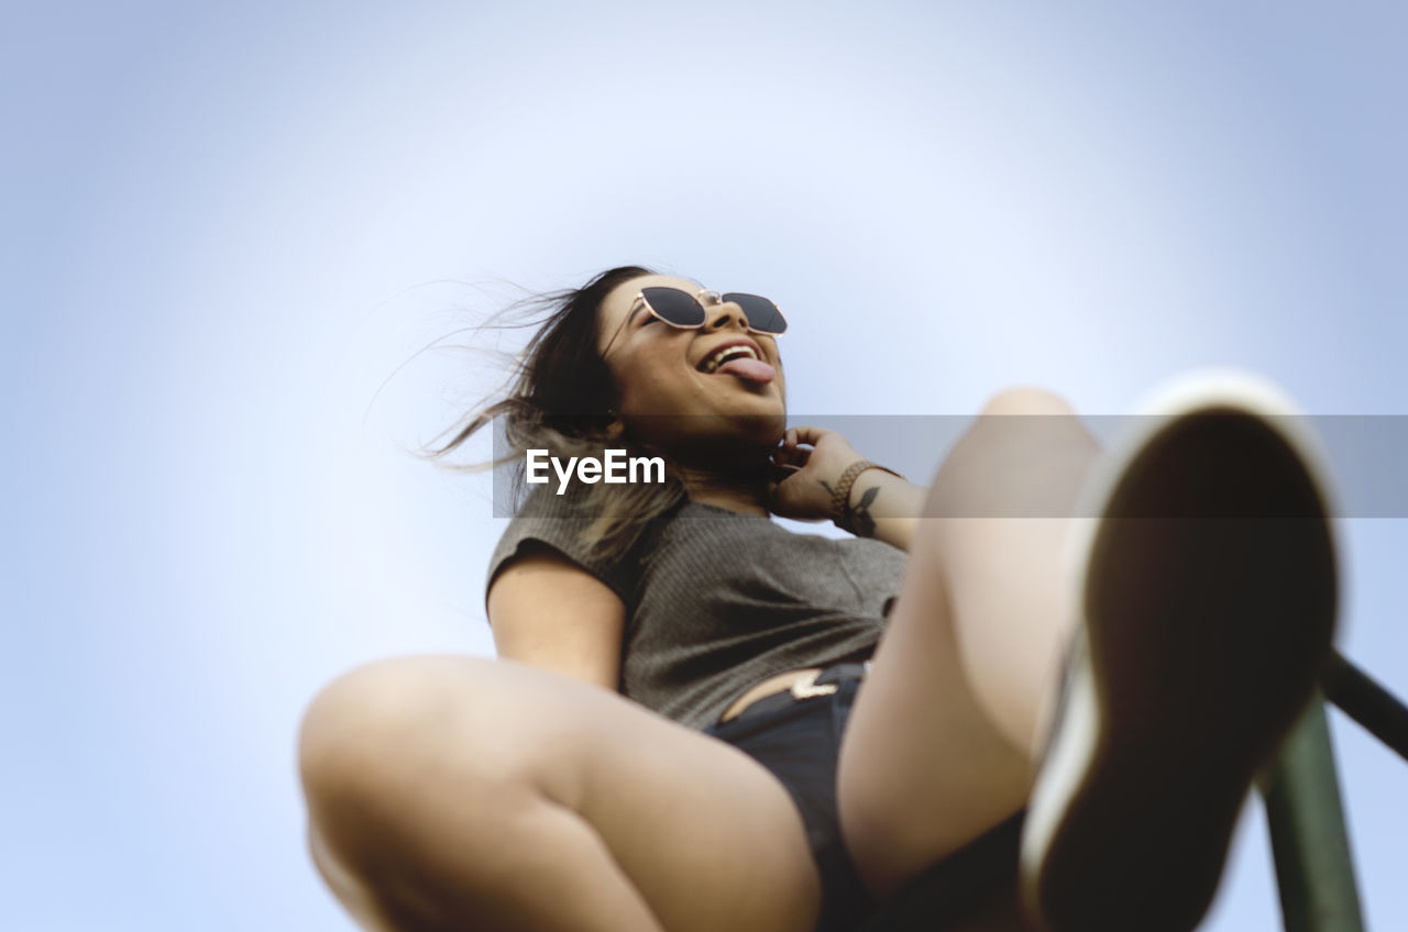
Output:
<svg viewBox="0 0 1408 932">
<path fill-rule="evenodd" d="M 424 455 L 432 460 L 444 459 L 501 417 L 508 453 L 491 465 L 513 466 L 517 510 L 524 498 L 524 455 L 529 449 L 546 449 L 558 458 L 600 458 L 608 446 L 624 448 L 629 455 L 646 453 L 636 449 L 629 436 L 611 431 L 617 389 L 610 367 L 597 351 L 601 301 L 622 282 L 642 275 L 653 272 L 634 265 L 618 266 L 580 289 L 552 291 L 515 304 L 514 308 L 538 310 L 545 317 L 529 324 L 539 329 L 514 363 L 508 394 L 448 428 L 441 436 L 455 432 L 453 438 L 425 449 Z M 660 456 L 659 451 L 648 453 Z M 583 532 L 583 543 L 594 556 L 617 559 L 625 555 L 650 521 L 686 498 L 679 470 L 667 456 L 663 459 L 663 483 L 596 483 L 587 487 L 586 514 L 594 521 Z"/>
</svg>

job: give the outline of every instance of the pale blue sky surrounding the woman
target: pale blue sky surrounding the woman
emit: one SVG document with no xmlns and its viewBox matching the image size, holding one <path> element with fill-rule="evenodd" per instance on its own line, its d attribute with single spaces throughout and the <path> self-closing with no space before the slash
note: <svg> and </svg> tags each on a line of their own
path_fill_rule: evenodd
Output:
<svg viewBox="0 0 1408 932">
<path fill-rule="evenodd" d="M 798 414 L 1121 414 L 1201 365 L 1408 414 L 1387 1 L 7 13 L 6 928 L 352 928 L 294 732 L 353 665 L 491 649 L 487 487 L 397 452 L 483 360 L 373 396 L 493 282 L 769 294 Z M 1342 646 L 1408 693 L 1408 528 L 1342 529 Z M 1408 769 L 1333 735 L 1369 922 L 1408 928 Z M 1277 925 L 1252 805 L 1205 928 Z"/>
</svg>

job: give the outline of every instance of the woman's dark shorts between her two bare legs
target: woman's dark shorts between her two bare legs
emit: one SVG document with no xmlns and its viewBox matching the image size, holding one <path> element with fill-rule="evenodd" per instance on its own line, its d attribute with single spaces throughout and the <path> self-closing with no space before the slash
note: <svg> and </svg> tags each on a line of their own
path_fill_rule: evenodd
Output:
<svg viewBox="0 0 1408 932">
<path fill-rule="evenodd" d="M 791 701 L 780 708 L 781 697 L 767 697 L 738 718 L 704 729 L 705 735 L 734 745 L 767 767 L 801 811 L 811 856 L 821 873 L 822 907 L 817 932 L 853 932 L 876 907 L 841 839 L 836 812 L 841 735 L 860 688 L 860 679 L 850 673 L 853 665 L 846 667 L 848 674 L 839 679 L 832 673 L 835 667 L 817 677 L 817 684 L 838 684 L 831 695 L 791 700 L 783 693 L 781 697 Z"/>
</svg>

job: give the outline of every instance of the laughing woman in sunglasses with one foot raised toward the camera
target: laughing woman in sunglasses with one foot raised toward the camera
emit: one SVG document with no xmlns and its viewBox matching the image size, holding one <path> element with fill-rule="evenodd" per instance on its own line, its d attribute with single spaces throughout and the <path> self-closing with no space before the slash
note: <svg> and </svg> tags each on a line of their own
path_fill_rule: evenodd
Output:
<svg viewBox="0 0 1408 932">
<path fill-rule="evenodd" d="M 1184 389 L 1102 453 L 1007 390 L 924 489 L 786 429 L 769 301 L 635 266 L 558 297 L 441 452 L 497 413 L 520 455 L 617 446 L 665 481 L 534 490 L 490 567 L 498 662 L 314 700 L 310 846 L 365 928 L 856 928 L 1024 807 L 1033 922 L 1197 924 L 1333 625 L 1278 396 Z"/>
</svg>

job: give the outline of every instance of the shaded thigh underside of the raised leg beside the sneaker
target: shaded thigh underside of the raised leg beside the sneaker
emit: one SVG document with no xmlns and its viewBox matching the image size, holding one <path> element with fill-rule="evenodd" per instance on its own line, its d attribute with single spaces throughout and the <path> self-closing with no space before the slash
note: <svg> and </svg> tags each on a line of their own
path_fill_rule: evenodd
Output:
<svg viewBox="0 0 1408 932">
<path fill-rule="evenodd" d="M 1031 763 L 979 703 L 934 553 L 910 566 L 838 767 L 841 825 L 856 869 L 887 895 L 1018 811 Z"/>
</svg>

